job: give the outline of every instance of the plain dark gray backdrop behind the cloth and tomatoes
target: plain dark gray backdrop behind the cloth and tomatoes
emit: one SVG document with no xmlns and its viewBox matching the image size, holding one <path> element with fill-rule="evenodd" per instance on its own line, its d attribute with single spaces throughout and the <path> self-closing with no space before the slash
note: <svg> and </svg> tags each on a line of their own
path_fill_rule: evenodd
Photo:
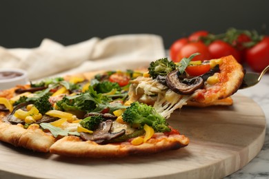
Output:
<svg viewBox="0 0 269 179">
<path fill-rule="evenodd" d="M 269 1 L 255 0 L 6 0 L 0 1 L 0 45 L 37 47 L 50 38 L 64 45 L 93 36 L 158 34 L 166 48 L 196 30 L 228 28 L 268 34 Z"/>
</svg>

